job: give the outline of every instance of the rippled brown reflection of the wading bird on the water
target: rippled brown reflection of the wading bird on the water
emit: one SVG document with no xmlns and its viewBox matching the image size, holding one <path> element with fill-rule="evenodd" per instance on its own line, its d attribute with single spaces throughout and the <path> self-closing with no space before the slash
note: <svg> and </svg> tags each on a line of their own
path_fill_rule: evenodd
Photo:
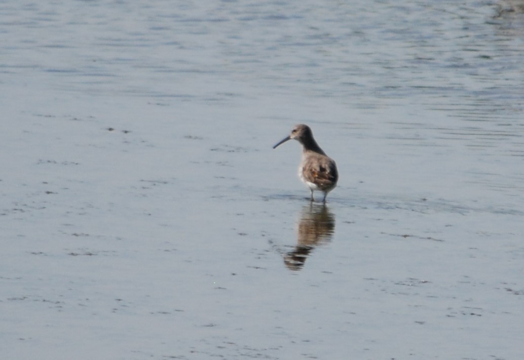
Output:
<svg viewBox="0 0 524 360">
<path fill-rule="evenodd" d="M 331 241 L 335 217 L 324 204 L 304 206 L 298 224 L 297 245 L 286 253 L 284 262 L 290 270 L 300 270 L 315 246 Z"/>
</svg>

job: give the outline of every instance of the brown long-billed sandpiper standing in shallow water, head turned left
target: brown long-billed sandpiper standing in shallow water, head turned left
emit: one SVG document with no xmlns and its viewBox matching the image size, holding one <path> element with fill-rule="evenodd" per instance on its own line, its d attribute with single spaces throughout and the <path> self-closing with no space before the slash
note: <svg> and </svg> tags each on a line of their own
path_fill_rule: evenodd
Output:
<svg viewBox="0 0 524 360">
<path fill-rule="evenodd" d="M 313 138 L 313 132 L 304 124 L 295 126 L 291 134 L 279 141 L 273 149 L 291 139 L 302 144 L 302 161 L 298 168 L 298 176 L 311 190 L 311 201 L 314 201 L 313 192 L 321 191 L 324 193 L 322 201 L 325 203 L 326 196 L 339 180 L 335 161 L 319 147 Z"/>
</svg>

